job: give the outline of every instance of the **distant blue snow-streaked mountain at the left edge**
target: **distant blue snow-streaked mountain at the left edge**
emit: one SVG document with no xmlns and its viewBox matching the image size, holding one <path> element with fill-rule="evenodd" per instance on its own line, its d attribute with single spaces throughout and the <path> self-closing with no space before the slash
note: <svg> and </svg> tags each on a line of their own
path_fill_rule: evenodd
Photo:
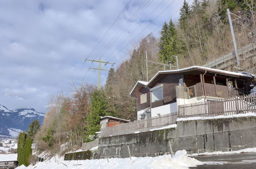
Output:
<svg viewBox="0 0 256 169">
<path fill-rule="evenodd" d="M 0 140 L 15 138 L 19 132 L 27 131 L 34 119 L 39 119 L 42 125 L 44 116 L 33 108 L 9 110 L 0 104 Z"/>
</svg>

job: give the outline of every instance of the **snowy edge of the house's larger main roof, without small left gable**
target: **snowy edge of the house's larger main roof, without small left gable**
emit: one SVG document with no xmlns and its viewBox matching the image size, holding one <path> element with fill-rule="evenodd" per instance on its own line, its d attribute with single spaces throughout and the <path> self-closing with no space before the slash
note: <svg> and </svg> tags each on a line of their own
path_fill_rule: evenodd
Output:
<svg viewBox="0 0 256 169">
<path fill-rule="evenodd" d="M 159 74 L 162 74 L 162 73 L 176 73 L 176 72 L 178 73 L 178 72 L 183 72 L 183 71 L 188 71 L 188 70 L 193 70 L 193 69 L 208 70 L 208 71 L 211 71 L 211 72 L 224 73 L 224 74 L 229 74 L 229 75 L 233 75 L 233 76 L 253 77 L 253 75 L 251 75 L 249 73 L 245 73 L 245 72 L 238 73 L 238 72 L 230 72 L 230 71 L 224 71 L 224 70 L 219 70 L 219 69 L 206 68 L 206 67 L 201 67 L 201 66 L 191 66 L 191 67 L 188 67 L 188 68 L 183 68 L 183 69 L 178 69 L 178 70 L 159 71 L 154 75 L 154 77 L 152 77 L 149 80 L 148 84 L 151 83 L 154 80 L 154 78 Z"/>
</svg>

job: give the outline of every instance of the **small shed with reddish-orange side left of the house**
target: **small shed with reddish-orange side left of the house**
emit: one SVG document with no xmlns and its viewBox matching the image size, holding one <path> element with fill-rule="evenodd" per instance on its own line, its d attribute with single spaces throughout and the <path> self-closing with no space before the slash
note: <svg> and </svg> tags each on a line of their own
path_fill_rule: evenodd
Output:
<svg viewBox="0 0 256 169">
<path fill-rule="evenodd" d="M 130 120 L 125 120 L 122 118 L 116 118 L 112 116 L 104 116 L 101 118 L 100 124 L 101 124 L 101 128 L 108 128 L 114 125 L 119 125 L 127 122 L 130 122 Z"/>
</svg>

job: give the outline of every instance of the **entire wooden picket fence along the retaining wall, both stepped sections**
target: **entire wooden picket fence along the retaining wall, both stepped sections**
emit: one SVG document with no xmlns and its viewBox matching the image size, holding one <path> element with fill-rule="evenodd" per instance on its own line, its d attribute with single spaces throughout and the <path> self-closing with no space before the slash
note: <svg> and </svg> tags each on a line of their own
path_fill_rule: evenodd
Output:
<svg viewBox="0 0 256 169">
<path fill-rule="evenodd" d="M 241 113 L 256 113 L 256 94 L 178 105 L 178 113 L 170 113 L 140 121 L 132 121 L 101 129 L 101 137 L 146 132 L 175 124 L 176 119 L 187 117 L 213 117 Z"/>
</svg>

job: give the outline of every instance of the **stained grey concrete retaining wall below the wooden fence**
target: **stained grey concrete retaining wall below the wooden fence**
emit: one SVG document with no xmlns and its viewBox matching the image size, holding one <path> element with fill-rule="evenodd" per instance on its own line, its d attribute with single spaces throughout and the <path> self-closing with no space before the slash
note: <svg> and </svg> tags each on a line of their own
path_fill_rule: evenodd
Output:
<svg viewBox="0 0 256 169">
<path fill-rule="evenodd" d="M 158 156 L 172 150 L 188 153 L 241 150 L 256 146 L 256 117 L 178 121 L 177 127 L 100 138 L 97 158 Z"/>
</svg>

